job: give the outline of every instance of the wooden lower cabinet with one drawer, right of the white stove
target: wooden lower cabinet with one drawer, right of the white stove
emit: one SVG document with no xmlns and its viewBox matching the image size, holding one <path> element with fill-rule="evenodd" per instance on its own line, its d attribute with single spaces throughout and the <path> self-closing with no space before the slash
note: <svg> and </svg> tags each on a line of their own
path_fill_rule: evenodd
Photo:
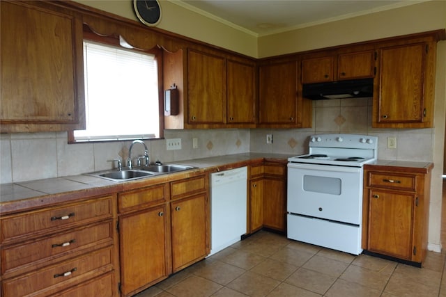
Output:
<svg viewBox="0 0 446 297">
<path fill-rule="evenodd" d="M 365 252 L 422 265 L 427 248 L 431 167 L 364 166 Z"/>
</svg>

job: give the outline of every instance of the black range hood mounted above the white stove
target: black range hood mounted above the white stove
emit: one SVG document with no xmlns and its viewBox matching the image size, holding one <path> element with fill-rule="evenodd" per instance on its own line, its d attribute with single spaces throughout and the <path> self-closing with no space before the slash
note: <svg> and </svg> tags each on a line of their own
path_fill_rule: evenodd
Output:
<svg viewBox="0 0 446 297">
<path fill-rule="evenodd" d="M 302 86 L 302 97 L 312 100 L 362 98 L 372 97 L 373 91 L 374 79 L 305 83 Z"/>
</svg>

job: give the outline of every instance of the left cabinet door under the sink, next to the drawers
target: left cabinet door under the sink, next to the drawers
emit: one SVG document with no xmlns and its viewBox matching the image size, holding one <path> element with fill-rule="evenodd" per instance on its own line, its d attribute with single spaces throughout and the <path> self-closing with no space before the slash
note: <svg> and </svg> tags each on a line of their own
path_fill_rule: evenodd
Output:
<svg viewBox="0 0 446 297">
<path fill-rule="evenodd" d="M 119 219 L 121 290 L 125 296 L 167 278 L 165 211 L 162 205 Z"/>
</svg>

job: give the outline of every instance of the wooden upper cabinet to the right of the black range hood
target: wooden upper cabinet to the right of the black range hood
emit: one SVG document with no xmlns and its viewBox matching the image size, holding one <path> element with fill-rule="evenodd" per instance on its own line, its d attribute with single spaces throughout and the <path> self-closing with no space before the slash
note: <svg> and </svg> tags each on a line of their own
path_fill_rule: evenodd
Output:
<svg viewBox="0 0 446 297">
<path fill-rule="evenodd" d="M 436 42 L 378 49 L 372 127 L 433 127 Z"/>
</svg>

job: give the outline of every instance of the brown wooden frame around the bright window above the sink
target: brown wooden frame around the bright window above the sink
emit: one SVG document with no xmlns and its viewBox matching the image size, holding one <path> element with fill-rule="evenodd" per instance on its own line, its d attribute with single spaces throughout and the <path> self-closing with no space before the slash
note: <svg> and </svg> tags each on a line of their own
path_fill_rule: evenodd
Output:
<svg viewBox="0 0 446 297">
<path fill-rule="evenodd" d="M 122 36 L 121 36 L 122 38 Z M 121 38 L 118 34 L 112 35 L 98 35 L 91 31 L 91 29 L 84 25 L 84 40 L 91 40 L 94 42 L 102 43 L 105 45 L 112 45 L 114 47 L 123 47 L 124 49 L 130 49 L 133 51 L 141 51 L 146 54 L 153 54 L 155 56 L 155 61 L 157 63 L 157 76 L 158 76 L 158 119 L 160 121 L 160 137 L 159 138 L 126 138 L 126 139 L 114 139 L 114 140 L 94 140 L 94 141 L 76 141 L 75 132 L 73 130 L 68 131 L 68 143 L 107 143 L 107 142 L 115 142 L 115 141 L 132 141 L 133 139 L 164 139 L 164 88 L 162 83 L 162 48 L 154 47 L 153 49 L 137 49 L 136 47 L 132 47 L 132 45 L 125 42 L 125 47 L 121 45 Z M 85 102 L 85 98 L 84 98 Z"/>
</svg>

